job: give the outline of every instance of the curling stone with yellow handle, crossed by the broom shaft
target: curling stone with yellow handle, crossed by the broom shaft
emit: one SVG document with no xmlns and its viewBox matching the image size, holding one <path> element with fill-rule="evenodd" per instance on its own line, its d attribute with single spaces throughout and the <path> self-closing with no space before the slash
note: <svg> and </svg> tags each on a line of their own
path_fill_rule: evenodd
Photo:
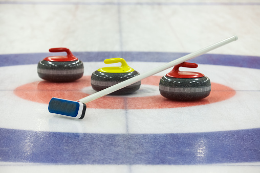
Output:
<svg viewBox="0 0 260 173">
<path fill-rule="evenodd" d="M 123 58 L 105 59 L 105 64 L 121 63 L 120 67 L 103 67 L 94 71 L 91 76 L 91 86 L 94 90 L 100 91 L 111 87 L 127 79 L 139 75 L 139 72 L 129 67 Z M 129 94 L 137 91 L 141 86 L 141 81 L 124 87 L 112 94 Z"/>
</svg>

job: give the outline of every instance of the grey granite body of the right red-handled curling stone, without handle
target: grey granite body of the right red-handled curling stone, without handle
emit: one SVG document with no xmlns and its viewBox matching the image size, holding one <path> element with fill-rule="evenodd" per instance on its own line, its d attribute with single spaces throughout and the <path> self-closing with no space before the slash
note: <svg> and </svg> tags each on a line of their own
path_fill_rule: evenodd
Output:
<svg viewBox="0 0 260 173">
<path fill-rule="evenodd" d="M 208 77 L 172 78 L 164 76 L 160 80 L 159 90 L 162 96 L 176 101 L 194 101 L 207 97 L 211 91 Z"/>
</svg>

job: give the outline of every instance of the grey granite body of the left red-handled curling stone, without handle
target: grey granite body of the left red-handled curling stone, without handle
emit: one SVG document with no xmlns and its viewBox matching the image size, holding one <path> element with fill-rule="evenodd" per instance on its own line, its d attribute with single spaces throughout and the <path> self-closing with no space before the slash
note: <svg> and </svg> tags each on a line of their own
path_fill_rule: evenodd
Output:
<svg viewBox="0 0 260 173">
<path fill-rule="evenodd" d="M 38 76 L 51 82 L 71 82 L 83 76 L 84 66 L 80 60 L 46 61 L 42 60 L 37 67 Z"/>
</svg>

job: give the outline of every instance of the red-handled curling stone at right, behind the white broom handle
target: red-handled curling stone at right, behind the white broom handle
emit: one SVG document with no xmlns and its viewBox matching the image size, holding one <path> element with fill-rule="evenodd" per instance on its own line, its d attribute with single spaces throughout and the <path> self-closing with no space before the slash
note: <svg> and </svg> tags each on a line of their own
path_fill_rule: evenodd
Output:
<svg viewBox="0 0 260 173">
<path fill-rule="evenodd" d="M 176 101 L 195 101 L 207 97 L 211 90 L 209 78 L 199 72 L 179 71 L 179 67 L 197 68 L 198 64 L 184 62 L 176 65 L 161 78 L 161 95 Z"/>
</svg>

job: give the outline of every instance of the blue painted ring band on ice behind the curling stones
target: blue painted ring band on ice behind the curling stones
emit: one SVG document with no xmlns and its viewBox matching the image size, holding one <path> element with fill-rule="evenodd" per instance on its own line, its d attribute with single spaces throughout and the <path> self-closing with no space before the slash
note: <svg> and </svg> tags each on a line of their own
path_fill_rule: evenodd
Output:
<svg viewBox="0 0 260 173">
<path fill-rule="evenodd" d="M 6 54 L 0 55 L 0 66 L 37 64 L 42 59 L 54 56 L 54 53 Z M 63 55 L 62 53 L 60 55 Z M 64 54 L 65 55 L 65 54 Z M 84 62 L 104 61 L 107 58 L 122 57 L 128 61 L 170 62 L 187 55 L 187 53 L 164 52 L 73 52 L 73 55 Z M 247 68 L 260 68 L 260 57 L 241 55 L 204 54 L 191 59 L 198 64 L 225 65 Z"/>
</svg>

